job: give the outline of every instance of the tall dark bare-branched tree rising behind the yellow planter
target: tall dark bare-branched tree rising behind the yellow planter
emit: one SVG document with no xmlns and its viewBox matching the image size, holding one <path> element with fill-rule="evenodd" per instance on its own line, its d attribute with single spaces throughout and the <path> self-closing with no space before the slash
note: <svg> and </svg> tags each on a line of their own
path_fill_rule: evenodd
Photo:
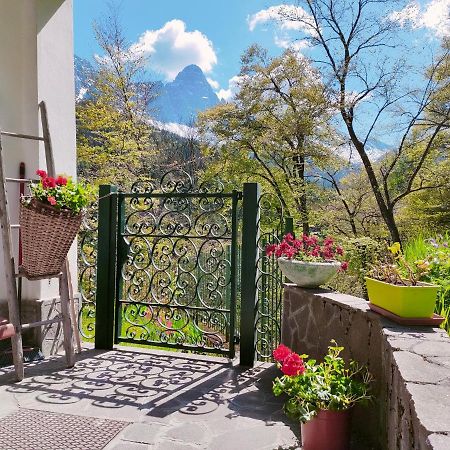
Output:
<svg viewBox="0 0 450 450">
<path fill-rule="evenodd" d="M 439 180 L 422 174 L 442 145 L 440 139 L 450 120 L 448 102 L 434 110 L 433 120 L 428 114 L 442 84 L 440 73 L 448 61 L 448 47 L 431 63 L 420 89 L 403 83 L 405 76 L 412 75 L 411 67 L 392 52 L 397 28 L 386 15 L 389 7 L 400 3 L 301 0 L 297 9 L 280 9 L 282 19 L 297 22 L 305 39 L 321 50 L 316 63 L 324 78 L 332 80 L 330 87 L 346 133 L 359 154 L 391 238 L 399 242 L 395 214 L 400 202 L 411 193 L 442 187 Z M 376 130 L 388 131 L 383 129 L 386 124 L 398 136 L 398 145 L 385 164 L 377 165 L 368 143 Z"/>
</svg>

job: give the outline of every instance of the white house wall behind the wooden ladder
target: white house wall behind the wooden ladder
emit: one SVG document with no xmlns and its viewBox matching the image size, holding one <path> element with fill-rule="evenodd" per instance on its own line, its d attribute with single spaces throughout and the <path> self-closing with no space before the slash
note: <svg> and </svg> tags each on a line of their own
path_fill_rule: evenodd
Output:
<svg viewBox="0 0 450 450">
<path fill-rule="evenodd" d="M 72 176 L 76 174 L 74 97 L 72 0 L 0 0 L 0 128 L 40 134 L 38 104 L 45 100 L 56 171 Z M 3 137 L 3 148 L 9 176 L 18 176 L 21 161 L 27 177 L 46 167 L 42 144 L 39 148 L 33 141 Z M 17 223 L 18 189 L 8 189 L 12 221 Z M 13 240 L 17 250 L 16 231 Z M 70 265 L 76 283 L 74 248 Z M 0 254 L 0 301 L 5 300 L 2 273 Z M 24 280 L 24 298 L 50 298 L 57 293 L 57 280 Z"/>
</svg>

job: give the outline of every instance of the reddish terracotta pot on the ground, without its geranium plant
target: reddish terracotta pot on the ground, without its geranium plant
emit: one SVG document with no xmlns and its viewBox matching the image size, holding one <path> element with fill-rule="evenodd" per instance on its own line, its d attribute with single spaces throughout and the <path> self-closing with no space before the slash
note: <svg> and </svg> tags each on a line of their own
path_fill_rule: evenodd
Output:
<svg viewBox="0 0 450 450">
<path fill-rule="evenodd" d="M 301 424 L 302 450 L 349 450 L 350 410 L 319 411 Z"/>
</svg>

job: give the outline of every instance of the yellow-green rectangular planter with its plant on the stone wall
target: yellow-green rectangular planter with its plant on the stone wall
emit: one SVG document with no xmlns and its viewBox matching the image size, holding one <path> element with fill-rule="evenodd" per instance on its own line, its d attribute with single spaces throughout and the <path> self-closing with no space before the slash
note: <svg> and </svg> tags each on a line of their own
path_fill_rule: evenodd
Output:
<svg viewBox="0 0 450 450">
<path fill-rule="evenodd" d="M 432 318 L 439 286 L 421 281 L 429 265 L 408 263 L 398 242 L 388 250 L 366 277 L 370 304 L 401 318 Z"/>
</svg>

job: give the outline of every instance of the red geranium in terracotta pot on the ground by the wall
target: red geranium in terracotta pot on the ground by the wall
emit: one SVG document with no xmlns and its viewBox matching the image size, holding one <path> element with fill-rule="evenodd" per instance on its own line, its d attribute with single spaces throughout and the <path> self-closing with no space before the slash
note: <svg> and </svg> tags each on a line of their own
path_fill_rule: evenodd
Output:
<svg viewBox="0 0 450 450">
<path fill-rule="evenodd" d="M 273 352 L 283 372 L 275 379 L 273 392 L 289 397 L 284 411 L 301 422 L 303 450 L 348 450 L 351 409 L 371 397 L 372 376 L 356 361 L 346 363 L 342 350 L 331 341 L 321 363 L 284 345 Z"/>
</svg>

